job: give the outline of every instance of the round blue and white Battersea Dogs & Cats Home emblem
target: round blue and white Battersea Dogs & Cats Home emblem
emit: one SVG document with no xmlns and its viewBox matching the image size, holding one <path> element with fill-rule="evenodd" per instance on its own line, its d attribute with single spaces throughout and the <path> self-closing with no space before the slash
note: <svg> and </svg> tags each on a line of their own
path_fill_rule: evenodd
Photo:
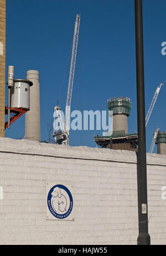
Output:
<svg viewBox="0 0 166 256">
<path fill-rule="evenodd" d="M 72 212 L 73 199 L 70 190 L 61 184 L 54 185 L 49 189 L 47 206 L 53 217 L 65 219 Z"/>
</svg>

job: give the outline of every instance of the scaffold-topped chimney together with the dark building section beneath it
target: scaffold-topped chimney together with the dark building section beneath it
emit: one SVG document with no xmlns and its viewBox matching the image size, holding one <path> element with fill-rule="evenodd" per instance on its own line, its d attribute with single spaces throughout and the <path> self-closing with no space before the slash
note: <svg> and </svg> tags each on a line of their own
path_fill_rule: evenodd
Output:
<svg viewBox="0 0 166 256">
<path fill-rule="evenodd" d="M 94 142 L 102 148 L 138 150 L 138 134 L 128 134 L 127 118 L 131 112 L 132 103 L 127 97 L 111 98 L 107 101 L 108 112 L 113 113 L 112 135 L 94 137 Z"/>
</svg>

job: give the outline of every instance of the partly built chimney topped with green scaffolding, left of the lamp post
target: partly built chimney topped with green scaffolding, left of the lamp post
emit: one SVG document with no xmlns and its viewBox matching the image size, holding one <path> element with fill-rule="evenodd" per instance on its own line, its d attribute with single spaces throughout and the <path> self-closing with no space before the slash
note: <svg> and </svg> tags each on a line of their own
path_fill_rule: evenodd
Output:
<svg viewBox="0 0 166 256">
<path fill-rule="evenodd" d="M 128 134 L 127 117 L 130 114 L 132 104 L 129 98 L 108 99 L 108 111 L 113 111 L 113 133 Z"/>
</svg>

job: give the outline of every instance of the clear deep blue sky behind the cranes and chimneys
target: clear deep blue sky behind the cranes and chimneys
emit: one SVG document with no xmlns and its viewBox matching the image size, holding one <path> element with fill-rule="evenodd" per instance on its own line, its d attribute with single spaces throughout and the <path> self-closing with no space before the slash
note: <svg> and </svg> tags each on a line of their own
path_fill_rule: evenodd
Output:
<svg viewBox="0 0 166 256">
<path fill-rule="evenodd" d="M 166 80 L 166 56 L 161 53 L 165 9 L 164 0 L 143 0 L 146 113 L 155 89 Z M 47 122 L 53 119 L 61 84 L 59 105 L 65 110 L 76 13 L 81 21 L 71 111 L 102 111 L 108 98 L 128 97 L 128 132 L 137 132 L 133 0 L 7 0 L 6 73 L 9 65 L 15 68 L 15 79 L 25 79 L 29 69 L 39 71 L 41 139 L 48 140 Z M 166 130 L 165 87 L 146 128 L 147 152 L 154 130 Z M 6 129 L 6 137 L 23 138 L 24 131 L 23 116 Z M 70 145 L 96 147 L 95 134 L 102 131 L 71 131 Z"/>
</svg>

